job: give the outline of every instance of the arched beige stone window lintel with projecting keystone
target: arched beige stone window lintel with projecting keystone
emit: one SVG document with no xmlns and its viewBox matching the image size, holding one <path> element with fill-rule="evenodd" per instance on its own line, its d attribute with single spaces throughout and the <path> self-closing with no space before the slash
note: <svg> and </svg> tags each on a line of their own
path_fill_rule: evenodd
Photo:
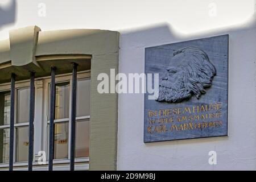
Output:
<svg viewBox="0 0 256 182">
<path fill-rule="evenodd" d="M 0 41 L 0 83 L 9 82 L 10 74 L 16 80 L 26 80 L 30 72 L 36 77 L 49 76 L 51 67 L 57 74 L 88 70 L 93 55 L 116 52 L 118 32 L 108 30 L 56 30 L 41 31 L 37 26 L 11 30 L 10 39 Z"/>
</svg>

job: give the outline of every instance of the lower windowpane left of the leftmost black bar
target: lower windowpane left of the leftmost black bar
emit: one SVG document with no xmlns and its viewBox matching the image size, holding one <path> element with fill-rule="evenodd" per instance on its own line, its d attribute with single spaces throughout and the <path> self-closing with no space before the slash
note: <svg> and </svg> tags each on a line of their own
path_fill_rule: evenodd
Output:
<svg viewBox="0 0 256 182">
<path fill-rule="evenodd" d="M 0 163 L 9 163 L 9 129 L 0 130 Z"/>
</svg>

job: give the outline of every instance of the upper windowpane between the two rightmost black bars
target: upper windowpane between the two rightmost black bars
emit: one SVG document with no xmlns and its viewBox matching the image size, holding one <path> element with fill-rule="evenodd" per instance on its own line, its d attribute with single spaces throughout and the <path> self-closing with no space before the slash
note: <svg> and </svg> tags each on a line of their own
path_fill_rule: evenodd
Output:
<svg viewBox="0 0 256 182">
<path fill-rule="evenodd" d="M 55 119 L 69 117 L 69 82 L 56 84 Z"/>
</svg>

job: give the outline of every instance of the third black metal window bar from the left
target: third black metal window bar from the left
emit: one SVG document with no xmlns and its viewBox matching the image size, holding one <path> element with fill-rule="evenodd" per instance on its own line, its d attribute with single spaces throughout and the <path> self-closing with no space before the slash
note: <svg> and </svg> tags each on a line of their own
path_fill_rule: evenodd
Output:
<svg viewBox="0 0 256 182">
<path fill-rule="evenodd" d="M 52 67 L 51 73 L 51 101 L 50 101 L 50 122 L 49 122 L 49 171 L 53 169 L 54 150 L 54 119 L 55 119 L 55 73 L 56 67 Z"/>
</svg>

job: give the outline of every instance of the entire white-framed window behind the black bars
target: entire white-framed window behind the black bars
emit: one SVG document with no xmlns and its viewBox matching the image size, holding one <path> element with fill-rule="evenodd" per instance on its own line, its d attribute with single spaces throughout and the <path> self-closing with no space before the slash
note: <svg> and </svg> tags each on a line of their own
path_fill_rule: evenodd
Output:
<svg viewBox="0 0 256 182">
<path fill-rule="evenodd" d="M 48 153 L 50 78 L 37 78 L 35 88 L 34 155 Z M 9 163 L 10 87 L 0 85 L 0 163 Z M 28 161 L 30 82 L 15 83 L 14 163 Z M 56 76 L 54 159 L 69 159 L 72 75 Z M 89 157 L 90 73 L 77 73 L 75 157 Z M 88 161 L 88 159 L 79 159 Z M 3 164 L 5 165 L 5 164 Z"/>
</svg>

